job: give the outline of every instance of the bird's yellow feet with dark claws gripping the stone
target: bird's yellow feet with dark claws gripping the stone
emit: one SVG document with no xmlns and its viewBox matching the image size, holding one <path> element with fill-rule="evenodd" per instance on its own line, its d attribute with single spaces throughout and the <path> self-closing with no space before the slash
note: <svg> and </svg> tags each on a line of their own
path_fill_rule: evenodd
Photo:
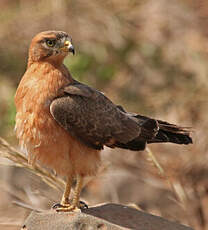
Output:
<svg viewBox="0 0 208 230">
<path fill-rule="evenodd" d="M 55 209 L 57 212 L 69 212 L 74 211 L 76 209 L 88 209 L 88 205 L 83 201 L 79 201 L 78 205 L 72 205 L 69 202 L 67 202 L 54 204 L 52 206 L 52 209 Z"/>
</svg>

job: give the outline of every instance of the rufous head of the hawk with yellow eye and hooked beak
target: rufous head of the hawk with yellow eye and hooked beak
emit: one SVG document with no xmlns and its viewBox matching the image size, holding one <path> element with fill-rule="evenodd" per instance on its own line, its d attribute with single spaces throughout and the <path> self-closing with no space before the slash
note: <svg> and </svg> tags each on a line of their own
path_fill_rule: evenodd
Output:
<svg viewBox="0 0 208 230">
<path fill-rule="evenodd" d="M 62 31 L 45 31 L 37 34 L 29 49 L 30 62 L 62 62 L 69 52 L 74 54 L 71 37 Z"/>
</svg>

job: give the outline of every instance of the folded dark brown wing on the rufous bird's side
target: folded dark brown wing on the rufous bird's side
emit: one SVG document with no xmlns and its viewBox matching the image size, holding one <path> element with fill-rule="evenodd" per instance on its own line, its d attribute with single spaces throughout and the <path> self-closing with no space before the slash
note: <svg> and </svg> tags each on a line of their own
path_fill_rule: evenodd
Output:
<svg viewBox="0 0 208 230">
<path fill-rule="evenodd" d="M 128 143 L 139 136 L 141 128 L 107 97 L 90 87 L 74 83 L 65 95 L 50 105 L 54 119 L 71 135 L 95 149 L 114 143 Z"/>
</svg>

